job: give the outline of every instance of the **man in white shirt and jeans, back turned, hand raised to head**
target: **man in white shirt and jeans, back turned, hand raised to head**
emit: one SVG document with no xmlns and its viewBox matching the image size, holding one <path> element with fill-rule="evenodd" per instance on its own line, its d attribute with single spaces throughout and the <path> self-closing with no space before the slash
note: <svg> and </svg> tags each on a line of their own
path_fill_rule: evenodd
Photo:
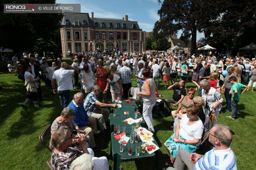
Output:
<svg viewBox="0 0 256 170">
<path fill-rule="evenodd" d="M 71 68 L 72 70 L 66 70 Z M 58 83 L 58 94 L 60 96 L 60 107 L 61 110 L 69 105 L 70 89 L 73 89 L 71 76 L 74 73 L 78 73 L 78 69 L 68 65 L 66 62 L 61 63 L 61 68 L 56 70 L 52 76 L 52 88 L 53 93 L 56 94 L 57 90 L 55 87 L 55 80 Z"/>
</svg>

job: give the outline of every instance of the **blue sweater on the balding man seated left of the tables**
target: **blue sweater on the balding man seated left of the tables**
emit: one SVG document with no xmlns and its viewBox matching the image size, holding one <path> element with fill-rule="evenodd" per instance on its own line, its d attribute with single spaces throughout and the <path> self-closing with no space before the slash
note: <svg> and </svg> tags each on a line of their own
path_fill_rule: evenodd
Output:
<svg viewBox="0 0 256 170">
<path fill-rule="evenodd" d="M 75 117 L 73 118 L 73 122 L 78 125 L 78 127 L 88 126 L 87 120 L 89 119 L 83 105 L 78 106 L 74 100 L 70 102 L 68 107 L 71 107 L 75 111 Z"/>
</svg>

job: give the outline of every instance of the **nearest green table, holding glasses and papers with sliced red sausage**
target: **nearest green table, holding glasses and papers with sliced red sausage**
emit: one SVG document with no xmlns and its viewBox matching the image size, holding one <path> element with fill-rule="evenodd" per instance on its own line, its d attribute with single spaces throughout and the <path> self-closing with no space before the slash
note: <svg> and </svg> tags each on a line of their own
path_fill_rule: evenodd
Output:
<svg viewBox="0 0 256 170">
<path fill-rule="evenodd" d="M 130 136 L 131 130 L 132 130 L 131 127 L 126 127 L 126 135 L 127 136 Z M 118 142 L 119 140 L 116 140 L 114 136 L 115 136 L 114 132 L 112 132 L 111 133 L 111 148 L 110 148 L 110 150 L 111 150 L 111 153 L 112 153 L 112 156 L 113 156 L 113 162 L 114 162 L 114 165 L 113 165 L 114 167 L 113 168 L 114 168 L 114 170 L 119 169 L 119 166 L 120 166 L 121 162 L 139 161 L 139 160 L 142 160 L 142 159 L 147 159 L 148 160 L 148 158 L 153 158 L 155 160 L 155 169 L 157 170 L 159 150 L 156 150 L 154 153 L 149 154 L 147 151 L 145 153 L 142 153 L 141 148 L 140 148 L 140 155 L 136 156 L 135 155 L 136 145 L 137 144 L 142 145 L 142 142 L 141 142 L 140 137 L 139 137 L 138 143 L 133 142 L 133 144 L 132 144 L 132 155 L 129 156 L 128 155 L 128 146 L 130 144 L 130 140 L 124 146 L 124 151 L 120 152 L 120 144 Z M 152 138 L 154 139 L 154 136 L 152 136 Z M 156 141 L 153 141 L 153 143 L 155 145 L 157 145 Z M 133 169 L 133 168 L 131 168 L 131 169 Z"/>
</svg>

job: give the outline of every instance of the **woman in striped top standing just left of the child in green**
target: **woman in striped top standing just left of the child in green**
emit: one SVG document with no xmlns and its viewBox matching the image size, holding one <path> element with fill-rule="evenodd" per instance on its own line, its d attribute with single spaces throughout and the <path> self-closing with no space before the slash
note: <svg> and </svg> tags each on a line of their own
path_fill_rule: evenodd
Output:
<svg viewBox="0 0 256 170">
<path fill-rule="evenodd" d="M 231 111 L 232 84 L 229 81 L 229 77 L 235 76 L 237 78 L 237 75 L 234 73 L 234 67 L 229 67 L 227 71 L 228 74 L 225 76 L 223 86 L 220 89 L 222 90 L 225 87 L 226 111 Z"/>
</svg>

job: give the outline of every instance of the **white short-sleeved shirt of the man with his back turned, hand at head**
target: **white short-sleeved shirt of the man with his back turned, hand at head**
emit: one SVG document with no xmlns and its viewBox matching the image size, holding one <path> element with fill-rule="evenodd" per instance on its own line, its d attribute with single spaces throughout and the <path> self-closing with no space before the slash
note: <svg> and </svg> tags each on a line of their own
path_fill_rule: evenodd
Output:
<svg viewBox="0 0 256 170">
<path fill-rule="evenodd" d="M 53 73 L 52 78 L 57 80 L 58 91 L 73 89 L 71 77 L 74 72 L 74 70 L 66 70 L 64 68 L 60 68 Z"/>
</svg>

